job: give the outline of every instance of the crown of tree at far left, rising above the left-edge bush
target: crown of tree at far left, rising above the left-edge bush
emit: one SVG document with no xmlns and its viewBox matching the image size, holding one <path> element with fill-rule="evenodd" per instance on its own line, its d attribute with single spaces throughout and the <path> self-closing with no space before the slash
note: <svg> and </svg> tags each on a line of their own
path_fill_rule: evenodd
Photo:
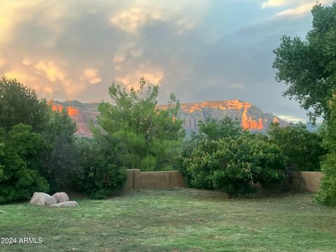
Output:
<svg viewBox="0 0 336 252">
<path fill-rule="evenodd" d="M 43 131 L 50 107 L 45 99 L 16 79 L 0 79 L 0 127 L 6 131 L 19 123 L 31 125 L 34 132 Z"/>
</svg>

